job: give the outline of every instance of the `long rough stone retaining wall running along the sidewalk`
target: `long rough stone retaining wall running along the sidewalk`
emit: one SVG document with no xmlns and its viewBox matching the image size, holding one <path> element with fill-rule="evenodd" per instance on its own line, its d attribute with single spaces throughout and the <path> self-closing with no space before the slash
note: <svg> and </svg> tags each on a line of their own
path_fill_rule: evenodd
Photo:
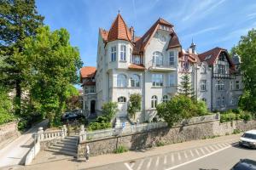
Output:
<svg viewBox="0 0 256 170">
<path fill-rule="evenodd" d="M 84 157 L 85 144 L 90 147 L 90 155 L 97 156 L 113 153 L 119 146 L 124 145 L 129 150 L 139 150 L 152 147 L 158 143 L 174 144 L 189 140 L 205 139 L 217 135 L 231 134 L 234 129 L 246 131 L 256 128 L 256 121 L 249 122 L 204 122 L 188 126 L 165 127 L 154 129 L 144 133 L 132 133 L 120 137 L 98 139 L 80 143 L 78 157 Z"/>
</svg>

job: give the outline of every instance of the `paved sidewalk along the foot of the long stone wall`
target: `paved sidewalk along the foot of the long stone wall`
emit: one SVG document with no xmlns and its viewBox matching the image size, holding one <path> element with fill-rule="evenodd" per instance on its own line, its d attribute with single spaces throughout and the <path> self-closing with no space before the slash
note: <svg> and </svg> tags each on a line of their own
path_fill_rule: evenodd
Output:
<svg viewBox="0 0 256 170">
<path fill-rule="evenodd" d="M 90 161 L 76 160 L 70 156 L 55 155 L 47 151 L 41 151 L 32 165 L 26 167 L 19 167 L 19 169 L 84 169 L 90 167 L 99 167 L 107 164 L 112 164 L 121 161 L 131 161 L 147 156 L 155 156 L 165 154 L 171 151 L 185 150 L 189 148 L 199 147 L 207 144 L 215 144 L 220 142 L 228 142 L 230 140 L 240 138 L 240 134 L 233 134 L 229 136 L 222 136 L 215 139 L 201 139 L 178 144 L 168 144 L 161 147 L 155 147 L 148 150 L 129 151 L 122 154 L 108 154 L 102 156 L 90 157 Z"/>
</svg>

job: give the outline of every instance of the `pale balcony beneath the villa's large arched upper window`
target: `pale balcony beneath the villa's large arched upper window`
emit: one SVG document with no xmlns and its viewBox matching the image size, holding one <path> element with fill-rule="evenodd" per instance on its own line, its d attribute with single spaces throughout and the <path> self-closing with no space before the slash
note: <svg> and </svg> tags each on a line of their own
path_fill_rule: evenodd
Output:
<svg viewBox="0 0 256 170">
<path fill-rule="evenodd" d="M 151 60 L 149 62 L 149 70 L 150 71 L 176 71 L 176 63 L 169 63 L 169 62 L 154 62 Z"/>
</svg>

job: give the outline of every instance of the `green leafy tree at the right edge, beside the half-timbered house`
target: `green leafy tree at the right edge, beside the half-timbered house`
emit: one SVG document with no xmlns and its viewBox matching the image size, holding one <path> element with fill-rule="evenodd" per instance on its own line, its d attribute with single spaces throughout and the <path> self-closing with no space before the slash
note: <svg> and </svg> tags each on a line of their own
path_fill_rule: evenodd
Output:
<svg viewBox="0 0 256 170">
<path fill-rule="evenodd" d="M 245 93 L 241 98 L 241 107 L 247 111 L 256 111 L 256 30 L 248 31 L 236 46 L 241 56 L 241 71 Z"/>
</svg>

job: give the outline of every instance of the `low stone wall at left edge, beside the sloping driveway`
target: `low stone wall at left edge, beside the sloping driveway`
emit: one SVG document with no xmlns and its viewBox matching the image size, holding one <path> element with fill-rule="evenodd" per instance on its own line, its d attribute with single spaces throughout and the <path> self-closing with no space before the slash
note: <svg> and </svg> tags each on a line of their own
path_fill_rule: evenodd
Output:
<svg viewBox="0 0 256 170">
<path fill-rule="evenodd" d="M 0 149 L 20 136 L 18 122 L 8 122 L 0 126 Z"/>
</svg>

